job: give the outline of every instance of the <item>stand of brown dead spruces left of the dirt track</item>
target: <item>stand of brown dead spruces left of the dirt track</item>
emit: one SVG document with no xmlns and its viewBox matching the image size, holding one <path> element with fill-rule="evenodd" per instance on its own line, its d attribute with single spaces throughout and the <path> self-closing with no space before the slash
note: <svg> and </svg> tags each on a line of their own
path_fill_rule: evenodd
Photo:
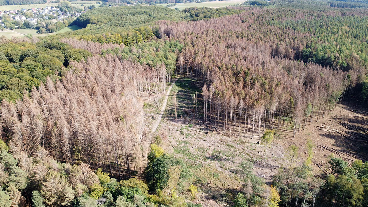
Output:
<svg viewBox="0 0 368 207">
<path fill-rule="evenodd" d="M 150 143 L 141 97 L 163 92 L 164 66 L 150 68 L 112 55 L 71 66 L 62 81 L 47 78 L 22 101 L 3 101 L 3 131 L 30 154 L 40 145 L 59 161 L 82 161 L 117 176 L 140 172 Z"/>
</svg>

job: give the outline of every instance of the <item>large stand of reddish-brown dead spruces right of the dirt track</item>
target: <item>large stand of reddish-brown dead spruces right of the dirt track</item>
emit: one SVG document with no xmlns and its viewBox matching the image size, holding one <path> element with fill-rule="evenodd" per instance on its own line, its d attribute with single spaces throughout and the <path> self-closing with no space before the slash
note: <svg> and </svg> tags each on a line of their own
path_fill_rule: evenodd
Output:
<svg viewBox="0 0 368 207">
<path fill-rule="evenodd" d="M 250 132 L 258 139 L 266 128 L 283 127 L 294 137 L 304 120 L 313 116 L 318 120 L 333 110 L 351 82 L 341 70 L 294 60 L 294 53 L 300 53 L 294 51 L 297 47 L 275 45 L 275 39 L 293 39 L 291 34 L 300 34 L 273 27 L 270 29 L 278 36 L 258 32 L 259 15 L 271 18 L 265 11 L 249 8 L 206 21 L 162 20 L 158 24 L 162 38 L 184 45 L 177 59 L 178 73 L 204 85 L 204 122 L 209 117 L 217 120 L 219 129 L 238 135 Z M 243 107 L 239 107 L 240 101 Z M 312 115 L 304 113 L 309 103 Z"/>
</svg>

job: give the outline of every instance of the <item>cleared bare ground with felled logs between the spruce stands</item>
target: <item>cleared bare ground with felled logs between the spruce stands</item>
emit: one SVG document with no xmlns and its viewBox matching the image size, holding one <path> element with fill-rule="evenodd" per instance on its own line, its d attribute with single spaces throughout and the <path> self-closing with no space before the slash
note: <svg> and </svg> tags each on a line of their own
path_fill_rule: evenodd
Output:
<svg viewBox="0 0 368 207">
<path fill-rule="evenodd" d="M 194 183 L 198 186 L 199 195 L 196 203 L 203 206 L 231 206 L 231 196 L 236 195 L 243 188 L 243 180 L 239 175 L 239 165 L 248 159 L 254 162 L 253 172 L 265 179 L 267 184 L 272 182 L 272 176 L 278 169 L 290 164 L 287 148 L 296 145 L 299 148 L 299 157 L 296 162 L 303 162 L 307 158 L 306 143 L 311 139 L 315 144 L 312 168 L 315 174 L 329 172 L 328 156 L 332 153 L 335 157 L 342 157 L 349 163 L 359 158 L 367 160 L 368 144 L 368 113 L 361 111 L 358 105 L 336 105 L 332 119 L 331 113 L 321 117 L 317 122 L 314 117 L 308 122 L 304 130 L 292 137 L 292 130 L 286 131 L 286 124 L 276 129 L 276 138 L 268 149 L 265 169 L 263 170 L 263 156 L 265 147 L 258 145 L 258 134 L 251 137 L 237 136 L 237 128 L 230 134 L 229 131 L 204 133 L 208 131 L 203 123 L 195 120 L 192 127 L 192 99 L 191 94 L 200 92 L 200 87 L 193 85 L 189 79 L 180 78 L 177 81 L 179 88 L 178 122 L 173 116 L 173 98 L 170 95 L 167 108 L 160 122 L 158 134 L 166 151 L 174 156 L 182 158 L 194 172 Z M 188 87 L 191 85 L 191 87 Z M 189 88 L 189 89 L 188 89 Z M 198 119 L 203 121 L 201 109 L 203 104 L 198 99 Z M 147 108 L 148 117 L 154 117 L 155 106 Z M 203 111 L 203 109 L 202 109 Z M 203 112 L 202 112 L 203 113 Z M 151 122 L 151 123 L 152 123 Z M 340 123 L 345 125 L 342 126 Z M 321 125 L 330 126 L 332 131 L 320 130 Z M 354 129 L 352 130 L 347 129 Z M 200 131 L 195 131 L 195 130 Z M 338 131 L 336 131 L 339 129 Z M 333 132 L 335 131 L 335 132 Z M 235 132 L 235 133 L 234 133 Z M 241 133 L 243 134 L 243 133 Z M 243 135 L 251 135 L 243 134 Z M 262 132 L 260 134 L 262 136 Z M 366 137 L 367 139 L 365 139 Z"/>
</svg>

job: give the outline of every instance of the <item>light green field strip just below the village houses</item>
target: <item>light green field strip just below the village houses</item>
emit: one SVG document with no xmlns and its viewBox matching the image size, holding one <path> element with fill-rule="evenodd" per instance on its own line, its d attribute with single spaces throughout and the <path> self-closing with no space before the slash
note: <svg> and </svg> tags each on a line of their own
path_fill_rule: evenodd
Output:
<svg viewBox="0 0 368 207">
<path fill-rule="evenodd" d="M 43 37 L 43 36 L 48 36 L 48 35 L 56 35 L 56 34 L 61 34 L 64 32 L 70 32 L 70 31 L 74 31 L 77 29 L 81 29 L 81 27 L 77 26 L 77 25 L 72 25 L 69 27 L 64 27 L 63 29 L 57 31 L 57 32 L 52 32 L 52 33 L 47 33 L 47 34 L 38 34 L 36 29 L 13 29 L 13 30 L 9 30 L 9 29 L 4 29 L 4 30 L 0 30 L 0 36 L 6 36 L 8 39 L 11 39 L 12 37 L 20 37 L 23 35 L 28 35 L 31 34 L 33 36 L 38 36 L 38 37 Z"/>
</svg>

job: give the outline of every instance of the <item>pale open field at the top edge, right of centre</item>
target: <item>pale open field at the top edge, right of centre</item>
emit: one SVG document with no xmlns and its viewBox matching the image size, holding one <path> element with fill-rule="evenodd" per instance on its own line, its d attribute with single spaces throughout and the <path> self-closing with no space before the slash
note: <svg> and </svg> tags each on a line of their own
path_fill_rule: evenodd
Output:
<svg viewBox="0 0 368 207">
<path fill-rule="evenodd" d="M 211 7 L 211 8 L 219 8 L 219 7 L 227 7 L 234 4 L 242 4 L 245 0 L 229 0 L 229 1 L 207 1 L 201 3 L 177 3 L 175 6 L 169 8 L 178 8 L 185 9 L 188 7 Z M 160 6 L 167 6 L 168 4 L 157 4 Z"/>
</svg>

